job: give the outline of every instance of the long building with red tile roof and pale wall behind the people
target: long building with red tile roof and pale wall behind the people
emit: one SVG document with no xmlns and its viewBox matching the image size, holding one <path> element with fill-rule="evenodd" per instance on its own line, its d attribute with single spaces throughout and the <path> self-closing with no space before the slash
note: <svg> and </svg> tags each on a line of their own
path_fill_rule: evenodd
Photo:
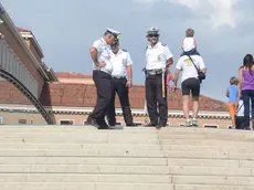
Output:
<svg viewBox="0 0 254 190">
<path fill-rule="evenodd" d="M 83 125 L 96 102 L 96 88 L 89 75 L 76 73 L 56 73 L 59 82 L 45 84 L 40 97 L 41 103 L 60 125 Z M 19 91 L 6 81 L 0 82 L 0 116 L 3 124 L 45 124 L 43 118 Z M 129 93 L 134 122 L 148 120 L 145 87 L 134 85 Z M 184 124 L 181 93 L 168 95 L 169 126 Z M 201 127 L 229 127 L 230 117 L 223 102 L 201 96 Z M 117 123 L 124 124 L 118 98 L 116 98 Z"/>
</svg>

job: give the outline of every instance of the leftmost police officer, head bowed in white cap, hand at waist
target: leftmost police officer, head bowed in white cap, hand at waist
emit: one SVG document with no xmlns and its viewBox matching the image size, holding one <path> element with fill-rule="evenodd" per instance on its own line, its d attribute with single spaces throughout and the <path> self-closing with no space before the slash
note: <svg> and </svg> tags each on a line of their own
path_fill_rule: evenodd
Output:
<svg viewBox="0 0 254 190">
<path fill-rule="evenodd" d="M 97 88 L 97 104 L 86 120 L 99 129 L 108 128 L 105 115 L 112 99 L 112 72 L 110 44 L 117 39 L 120 32 L 107 29 L 104 36 L 94 42 L 91 48 L 91 56 L 94 62 L 93 81 Z"/>
</svg>

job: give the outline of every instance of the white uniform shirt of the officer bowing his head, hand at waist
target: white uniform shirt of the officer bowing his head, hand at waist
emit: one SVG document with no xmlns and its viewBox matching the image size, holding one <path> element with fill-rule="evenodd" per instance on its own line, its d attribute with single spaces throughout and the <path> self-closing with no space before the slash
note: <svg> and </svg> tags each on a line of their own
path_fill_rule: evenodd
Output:
<svg viewBox="0 0 254 190">
<path fill-rule="evenodd" d="M 102 38 L 97 41 L 94 42 L 93 46 L 97 50 L 97 60 L 98 62 L 105 62 L 106 65 L 102 68 L 99 68 L 98 66 L 96 66 L 96 64 L 94 63 L 94 70 L 100 70 L 104 71 L 106 73 L 112 73 L 113 71 L 113 66 L 112 66 L 112 62 L 110 62 L 110 45 L 108 45 L 105 40 Z"/>
</svg>

